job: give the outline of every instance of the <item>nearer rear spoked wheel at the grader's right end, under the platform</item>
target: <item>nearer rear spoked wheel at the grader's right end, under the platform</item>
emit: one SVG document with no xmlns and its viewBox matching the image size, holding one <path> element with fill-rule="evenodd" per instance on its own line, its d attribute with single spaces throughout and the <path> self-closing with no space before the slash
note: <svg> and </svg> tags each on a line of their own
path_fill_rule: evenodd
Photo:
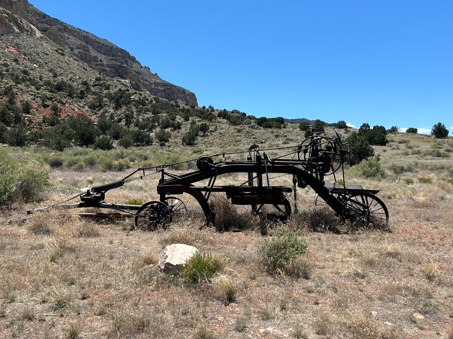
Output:
<svg viewBox="0 0 453 339">
<path fill-rule="evenodd" d="M 356 193 L 343 203 L 343 217 L 351 221 L 352 226 L 386 227 L 389 212 L 381 199 L 370 193 Z"/>
</svg>

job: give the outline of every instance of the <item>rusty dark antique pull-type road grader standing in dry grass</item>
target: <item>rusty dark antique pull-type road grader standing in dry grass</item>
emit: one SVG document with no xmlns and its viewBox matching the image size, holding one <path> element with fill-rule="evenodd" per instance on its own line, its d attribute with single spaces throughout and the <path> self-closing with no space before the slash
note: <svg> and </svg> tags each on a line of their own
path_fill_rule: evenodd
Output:
<svg viewBox="0 0 453 339">
<path fill-rule="evenodd" d="M 374 195 L 379 192 L 378 190 L 364 189 L 360 185 L 344 184 L 344 157 L 349 151 L 349 146 L 352 145 L 343 144 L 337 131 L 335 131 L 336 137 L 330 138 L 320 136 L 324 132 L 320 127 L 308 125 L 304 126 L 303 130 L 309 132 L 309 136 L 299 145 L 260 150 L 258 145 L 253 144 L 247 151 L 202 155 L 198 159 L 174 164 L 139 168 L 123 179 L 96 185 L 63 202 L 28 210 L 27 214 L 49 207 L 106 208 L 117 212 L 80 214 L 92 217 L 130 216 L 135 218 L 136 228 L 154 230 L 156 227 L 168 225 L 173 216 L 187 210 L 183 200 L 176 197 L 185 193 L 191 195 L 200 204 L 207 223 L 214 224 L 216 211 L 215 205 L 210 202 L 211 194 L 225 192 L 226 198 L 230 199 L 232 204 L 250 205 L 251 213 L 284 222 L 291 216 L 292 211 L 291 203 L 288 200 L 289 194 L 294 194 L 294 213 L 297 213 L 297 187 L 305 188 L 309 185 L 316 193 L 315 204 L 327 204 L 338 217 L 342 217 L 352 224 L 387 226 L 389 220 L 387 207 L 381 199 Z M 285 154 L 270 158 L 266 151 L 283 151 Z M 246 160 L 226 161 L 225 155 L 241 153 L 247 155 Z M 222 160 L 214 161 L 214 157 L 222 157 Z M 172 165 L 189 161 L 196 161 L 197 171 L 176 175 L 166 170 Z M 340 169 L 342 184 L 337 183 L 336 176 Z M 222 174 L 230 173 L 243 173 L 246 179 L 238 184 L 216 185 L 217 179 Z M 141 206 L 105 202 L 107 191 L 153 174 L 160 174 L 157 185 L 157 193 L 160 196 L 158 201 L 149 201 Z M 270 176 L 273 174 L 292 175 L 293 185 L 270 185 L 270 179 L 275 178 Z M 333 182 L 324 181 L 328 175 L 333 176 Z M 196 185 L 199 182 L 204 182 L 205 185 Z M 77 197 L 81 202 L 63 204 Z"/>
</svg>

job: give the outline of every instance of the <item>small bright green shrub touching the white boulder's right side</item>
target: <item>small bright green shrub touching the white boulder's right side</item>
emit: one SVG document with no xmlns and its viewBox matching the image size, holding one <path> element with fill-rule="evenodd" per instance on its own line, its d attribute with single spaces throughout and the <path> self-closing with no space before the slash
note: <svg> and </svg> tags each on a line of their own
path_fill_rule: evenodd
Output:
<svg viewBox="0 0 453 339">
<path fill-rule="evenodd" d="M 181 276 L 190 284 L 211 281 L 216 273 L 223 273 L 225 262 L 211 253 L 195 252 L 181 267 Z"/>
</svg>

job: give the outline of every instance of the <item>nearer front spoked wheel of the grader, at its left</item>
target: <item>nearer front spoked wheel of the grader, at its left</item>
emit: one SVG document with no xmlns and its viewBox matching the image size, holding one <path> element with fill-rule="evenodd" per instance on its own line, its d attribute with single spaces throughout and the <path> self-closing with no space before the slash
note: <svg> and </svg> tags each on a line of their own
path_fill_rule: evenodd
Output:
<svg viewBox="0 0 453 339">
<path fill-rule="evenodd" d="M 135 215 L 135 227 L 142 231 L 165 228 L 172 221 L 172 215 L 164 202 L 150 201 L 142 205 Z"/>
</svg>

